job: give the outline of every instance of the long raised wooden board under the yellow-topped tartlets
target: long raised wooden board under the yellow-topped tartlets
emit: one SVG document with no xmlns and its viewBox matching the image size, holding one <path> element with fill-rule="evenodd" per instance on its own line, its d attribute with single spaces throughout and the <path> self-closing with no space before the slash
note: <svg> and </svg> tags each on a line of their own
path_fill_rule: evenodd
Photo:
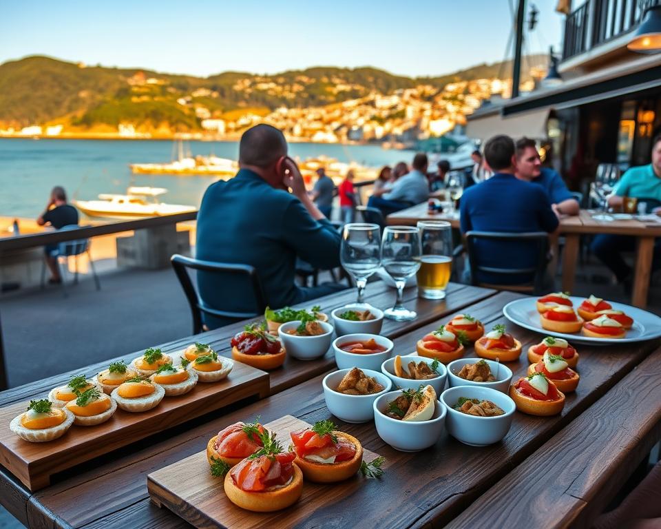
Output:
<svg viewBox="0 0 661 529">
<path fill-rule="evenodd" d="M 39 490 L 50 485 L 54 473 L 246 397 L 266 397 L 269 391 L 268 373 L 234 362 L 232 371 L 220 382 L 198 382 L 189 393 L 163 397 L 156 408 L 143 413 L 129 413 L 117 408 L 103 424 L 74 424 L 63 437 L 45 443 L 24 441 L 10 431 L 12 419 L 28 408 L 28 402 L 12 404 L 0 408 L 0 464 L 30 490 Z"/>
</svg>

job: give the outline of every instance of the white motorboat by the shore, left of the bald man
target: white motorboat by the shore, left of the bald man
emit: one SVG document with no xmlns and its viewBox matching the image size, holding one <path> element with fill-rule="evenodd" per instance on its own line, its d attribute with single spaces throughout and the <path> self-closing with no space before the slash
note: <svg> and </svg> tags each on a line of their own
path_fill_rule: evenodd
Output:
<svg viewBox="0 0 661 529">
<path fill-rule="evenodd" d="M 89 217 L 136 218 L 158 217 L 196 211 L 195 206 L 166 204 L 158 196 L 167 193 L 163 187 L 129 187 L 125 195 L 100 194 L 98 200 L 74 200 L 74 205 Z"/>
</svg>

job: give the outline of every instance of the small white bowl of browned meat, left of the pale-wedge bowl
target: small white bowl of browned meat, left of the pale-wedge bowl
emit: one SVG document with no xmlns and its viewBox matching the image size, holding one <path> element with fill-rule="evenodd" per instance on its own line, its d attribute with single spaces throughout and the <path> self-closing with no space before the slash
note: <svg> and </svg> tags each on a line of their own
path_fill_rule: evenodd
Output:
<svg viewBox="0 0 661 529">
<path fill-rule="evenodd" d="M 350 369 L 342 369 L 329 373 L 324 377 L 322 386 L 324 387 L 324 399 L 326 399 L 326 407 L 330 413 L 333 413 L 338 419 L 344 422 L 368 422 L 374 418 L 374 401 L 379 398 L 379 395 L 390 391 L 392 382 L 383 373 L 371 371 L 370 369 L 362 369 L 368 377 L 373 377 L 384 386 L 383 391 L 373 393 L 372 395 L 346 395 L 335 391 L 335 388 L 342 382 L 344 375 L 351 371 Z"/>
</svg>

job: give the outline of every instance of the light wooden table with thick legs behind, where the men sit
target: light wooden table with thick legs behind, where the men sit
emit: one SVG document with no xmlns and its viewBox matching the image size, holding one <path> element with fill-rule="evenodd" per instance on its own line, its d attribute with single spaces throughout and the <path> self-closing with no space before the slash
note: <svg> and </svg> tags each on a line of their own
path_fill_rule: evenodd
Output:
<svg viewBox="0 0 661 529">
<path fill-rule="evenodd" d="M 447 220 L 452 227 L 459 227 L 459 218 L 448 218 L 443 214 L 430 214 L 427 203 L 421 203 L 388 215 L 388 225 L 415 225 L 419 220 Z M 661 237 L 661 223 L 640 220 L 594 220 L 592 214 L 582 209 L 578 216 L 565 216 L 560 219 L 560 234 L 565 236 L 563 251 L 562 289 L 574 289 L 576 261 L 581 235 L 613 234 L 636 237 L 636 267 L 633 276 L 631 304 L 644 309 L 647 307 L 647 291 L 651 278 L 654 240 Z"/>
</svg>

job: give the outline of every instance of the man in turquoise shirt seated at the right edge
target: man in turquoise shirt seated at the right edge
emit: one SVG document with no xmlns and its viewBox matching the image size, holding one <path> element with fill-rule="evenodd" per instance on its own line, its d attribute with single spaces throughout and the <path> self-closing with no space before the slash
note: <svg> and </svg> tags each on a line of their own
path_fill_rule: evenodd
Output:
<svg viewBox="0 0 661 529">
<path fill-rule="evenodd" d="M 630 196 L 644 204 L 647 213 L 660 214 L 661 208 L 661 134 L 652 142 L 652 163 L 640 167 L 631 167 L 622 175 L 608 199 L 610 206 L 622 205 L 622 197 Z M 661 239 L 655 240 L 652 269 L 661 264 Z M 591 250 L 611 271 L 618 282 L 628 285 L 631 280 L 631 267 L 622 259 L 622 251 L 636 249 L 636 238 L 625 235 L 601 234 L 594 238 Z"/>
</svg>

